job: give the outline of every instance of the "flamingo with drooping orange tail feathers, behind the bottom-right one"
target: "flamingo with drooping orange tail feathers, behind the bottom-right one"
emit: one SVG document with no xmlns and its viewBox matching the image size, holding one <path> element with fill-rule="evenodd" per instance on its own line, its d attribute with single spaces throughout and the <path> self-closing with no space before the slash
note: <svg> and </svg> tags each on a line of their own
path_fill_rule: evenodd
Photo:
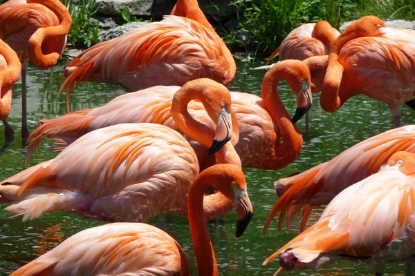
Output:
<svg viewBox="0 0 415 276">
<path fill-rule="evenodd" d="M 278 213 L 281 214 L 279 230 L 285 216 L 289 228 L 291 220 L 301 208 L 300 230 L 303 231 L 312 206 L 329 204 L 345 188 L 378 172 L 387 159 L 398 151 L 415 153 L 415 125 L 383 132 L 344 150 L 331 161 L 298 175 L 279 179 L 275 182 L 279 200 L 268 215 L 264 233 Z"/>
</svg>

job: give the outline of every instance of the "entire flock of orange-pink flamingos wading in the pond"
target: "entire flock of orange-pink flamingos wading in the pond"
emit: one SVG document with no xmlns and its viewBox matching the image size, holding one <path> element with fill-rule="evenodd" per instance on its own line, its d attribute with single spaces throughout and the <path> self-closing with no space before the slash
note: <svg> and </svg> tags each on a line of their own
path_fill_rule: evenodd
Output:
<svg viewBox="0 0 415 276">
<path fill-rule="evenodd" d="M 415 257 L 415 125 L 400 126 L 404 104 L 415 108 L 415 31 L 362 17 L 340 34 L 326 21 L 293 30 L 268 62 L 261 97 L 230 92 L 237 70 L 230 50 L 196 0 L 178 0 L 163 21 L 99 43 L 75 57 L 59 95 L 82 81 L 115 83 L 127 93 L 104 106 L 39 121 L 29 135 L 26 70 L 54 66 L 66 46 L 71 15 L 59 0 L 9 0 L 0 6 L 0 117 L 5 135 L 12 86 L 22 78 L 26 164 L 45 137 L 62 152 L 0 182 L 0 204 L 23 221 L 66 210 L 118 221 L 84 230 L 12 275 L 189 275 L 181 246 L 142 223 L 160 214 L 187 216 L 198 275 L 218 275 L 205 219 L 233 208 L 236 236 L 252 217 L 242 167 L 277 170 L 299 156 L 295 123 L 311 92 L 335 112 L 364 94 L 389 106 L 394 129 L 361 141 L 297 175 L 279 179 L 279 215 L 287 227 L 302 210 L 301 233 L 268 257 L 282 270 L 321 268 L 340 259 L 385 264 Z M 277 86 L 296 95 L 293 118 Z M 136 92 L 134 92 L 136 91 Z M 281 141 L 282 139 L 282 141 Z M 216 193 L 205 193 L 213 186 Z M 328 204 L 306 229 L 313 206 Z"/>
</svg>

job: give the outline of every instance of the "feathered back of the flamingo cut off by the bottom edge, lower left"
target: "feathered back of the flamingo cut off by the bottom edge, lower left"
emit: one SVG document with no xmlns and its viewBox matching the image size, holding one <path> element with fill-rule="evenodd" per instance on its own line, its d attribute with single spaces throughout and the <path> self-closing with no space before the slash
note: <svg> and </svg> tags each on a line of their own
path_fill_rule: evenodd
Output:
<svg viewBox="0 0 415 276">
<path fill-rule="evenodd" d="M 114 223 L 69 237 L 11 275 L 167 276 L 189 272 L 183 250 L 163 230 L 148 224 Z"/>
</svg>

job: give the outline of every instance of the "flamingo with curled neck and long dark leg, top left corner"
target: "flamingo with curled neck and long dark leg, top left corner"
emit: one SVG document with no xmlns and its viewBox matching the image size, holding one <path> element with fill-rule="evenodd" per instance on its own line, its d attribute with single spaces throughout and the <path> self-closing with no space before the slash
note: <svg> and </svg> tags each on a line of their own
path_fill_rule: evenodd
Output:
<svg viewBox="0 0 415 276">
<path fill-rule="evenodd" d="M 21 137 L 29 136 L 26 111 L 26 70 L 29 61 L 46 69 L 55 66 L 66 46 L 71 14 L 59 0 L 9 0 L 0 6 L 0 39 L 21 62 Z M 12 131 L 8 124 L 8 133 Z"/>
</svg>

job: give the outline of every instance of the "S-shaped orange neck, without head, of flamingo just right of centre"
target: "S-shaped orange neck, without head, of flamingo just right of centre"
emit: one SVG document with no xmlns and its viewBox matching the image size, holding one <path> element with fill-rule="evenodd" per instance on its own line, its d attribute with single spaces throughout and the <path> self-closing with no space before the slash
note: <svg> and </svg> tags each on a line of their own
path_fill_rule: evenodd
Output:
<svg viewBox="0 0 415 276">
<path fill-rule="evenodd" d="M 270 168 L 284 168 L 294 161 L 302 148 L 302 135 L 298 128 L 291 123 L 291 116 L 288 114 L 284 103 L 278 95 L 278 83 L 284 78 L 285 72 L 280 67 L 274 66 L 265 75 L 261 85 L 261 97 L 264 106 L 270 116 L 277 124 L 282 134 L 282 144 L 279 139 L 275 141 L 271 155 Z"/>
</svg>

